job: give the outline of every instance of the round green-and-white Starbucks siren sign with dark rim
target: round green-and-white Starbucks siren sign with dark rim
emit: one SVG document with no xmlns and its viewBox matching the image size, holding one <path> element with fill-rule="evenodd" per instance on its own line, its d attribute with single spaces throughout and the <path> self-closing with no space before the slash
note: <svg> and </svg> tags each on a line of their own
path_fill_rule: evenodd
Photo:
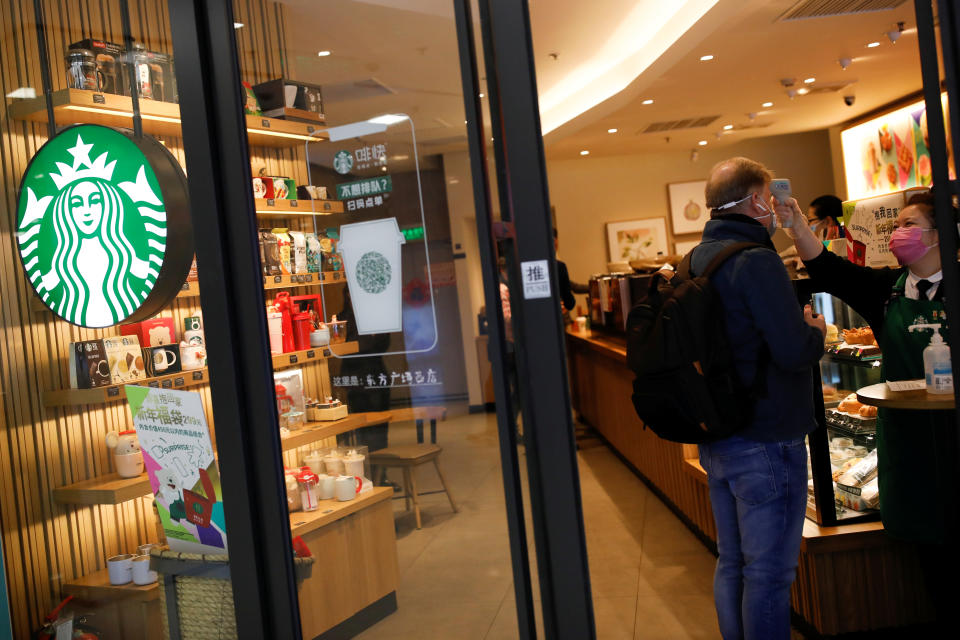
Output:
<svg viewBox="0 0 960 640">
<path fill-rule="evenodd" d="M 24 172 L 17 243 L 30 284 L 64 320 L 145 320 L 177 295 L 193 259 L 186 176 L 154 138 L 68 127 Z"/>
</svg>

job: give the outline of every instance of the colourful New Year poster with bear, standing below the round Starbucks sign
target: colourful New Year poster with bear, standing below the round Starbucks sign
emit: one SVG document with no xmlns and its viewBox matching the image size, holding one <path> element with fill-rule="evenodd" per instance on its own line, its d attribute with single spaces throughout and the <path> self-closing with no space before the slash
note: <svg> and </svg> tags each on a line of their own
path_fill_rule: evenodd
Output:
<svg viewBox="0 0 960 640">
<path fill-rule="evenodd" d="M 132 385 L 125 389 L 170 549 L 227 553 L 220 473 L 200 394 Z"/>
</svg>

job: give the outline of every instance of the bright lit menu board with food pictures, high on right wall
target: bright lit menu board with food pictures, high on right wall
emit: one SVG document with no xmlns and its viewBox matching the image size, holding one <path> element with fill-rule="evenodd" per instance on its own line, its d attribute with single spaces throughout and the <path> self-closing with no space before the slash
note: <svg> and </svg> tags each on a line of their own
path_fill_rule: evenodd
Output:
<svg viewBox="0 0 960 640">
<path fill-rule="evenodd" d="M 946 94 L 942 103 L 946 112 Z M 947 137 L 949 149 L 949 131 Z M 851 200 L 933 184 L 923 101 L 844 129 L 840 140 Z M 951 179 L 953 173 L 951 169 Z"/>
</svg>

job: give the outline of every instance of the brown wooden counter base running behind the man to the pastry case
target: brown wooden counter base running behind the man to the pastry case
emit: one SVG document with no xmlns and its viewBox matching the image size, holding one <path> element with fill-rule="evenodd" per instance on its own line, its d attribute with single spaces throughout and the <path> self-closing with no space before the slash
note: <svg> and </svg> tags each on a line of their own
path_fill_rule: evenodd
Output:
<svg viewBox="0 0 960 640">
<path fill-rule="evenodd" d="M 633 409 L 626 342 L 567 331 L 573 406 L 701 539 L 716 541 L 706 473 L 696 445 L 661 440 Z M 871 631 L 929 619 L 916 549 L 887 536 L 878 522 L 804 524 L 792 605 L 824 635 Z"/>
</svg>

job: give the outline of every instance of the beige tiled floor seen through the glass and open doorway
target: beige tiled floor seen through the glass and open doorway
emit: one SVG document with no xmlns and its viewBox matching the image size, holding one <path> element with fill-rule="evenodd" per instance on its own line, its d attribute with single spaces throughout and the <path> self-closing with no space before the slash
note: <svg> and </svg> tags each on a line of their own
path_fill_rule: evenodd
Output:
<svg viewBox="0 0 960 640">
<path fill-rule="evenodd" d="M 391 427 L 391 444 L 413 441 L 412 425 Z M 424 496 L 417 531 L 403 500 L 394 501 L 399 609 L 364 640 L 518 635 L 496 420 L 447 420 L 438 441 L 460 513 L 442 493 Z M 713 556 L 599 441 L 582 441 L 579 458 L 597 637 L 719 638 Z M 429 468 L 418 480 L 421 491 L 440 489 Z"/>
</svg>

